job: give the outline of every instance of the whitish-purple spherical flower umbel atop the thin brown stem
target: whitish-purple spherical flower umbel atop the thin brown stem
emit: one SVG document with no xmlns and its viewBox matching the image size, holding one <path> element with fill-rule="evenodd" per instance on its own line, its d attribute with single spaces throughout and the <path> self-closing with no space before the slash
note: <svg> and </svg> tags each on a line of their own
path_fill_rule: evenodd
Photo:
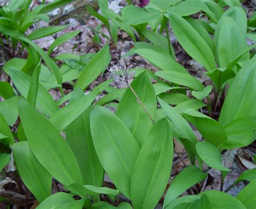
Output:
<svg viewBox="0 0 256 209">
<path fill-rule="evenodd" d="M 132 65 L 120 60 L 120 56 L 117 55 L 116 61 L 111 62 L 110 76 L 117 82 L 118 87 L 122 87 L 124 83 L 128 83 L 130 79 L 135 75 L 135 71 L 132 71 Z"/>
</svg>

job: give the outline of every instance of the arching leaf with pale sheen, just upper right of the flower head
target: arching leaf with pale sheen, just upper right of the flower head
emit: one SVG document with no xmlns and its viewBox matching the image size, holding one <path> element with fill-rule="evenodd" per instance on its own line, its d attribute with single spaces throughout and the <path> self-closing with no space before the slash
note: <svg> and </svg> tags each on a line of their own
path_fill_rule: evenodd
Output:
<svg viewBox="0 0 256 209">
<path fill-rule="evenodd" d="M 138 53 L 138 55 L 144 57 L 161 70 L 188 73 L 181 64 L 172 58 L 169 51 L 163 50 L 163 48 L 157 45 L 149 43 L 135 43 L 134 47 L 134 53 Z"/>
</svg>

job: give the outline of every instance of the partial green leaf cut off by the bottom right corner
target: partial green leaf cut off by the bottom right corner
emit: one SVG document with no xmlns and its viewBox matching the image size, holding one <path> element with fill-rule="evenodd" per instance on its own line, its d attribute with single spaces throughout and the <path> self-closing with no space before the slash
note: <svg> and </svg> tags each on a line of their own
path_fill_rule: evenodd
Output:
<svg viewBox="0 0 256 209">
<path fill-rule="evenodd" d="M 237 195 L 237 199 L 245 205 L 246 208 L 254 208 L 256 205 L 256 179 L 244 187 Z"/>
</svg>

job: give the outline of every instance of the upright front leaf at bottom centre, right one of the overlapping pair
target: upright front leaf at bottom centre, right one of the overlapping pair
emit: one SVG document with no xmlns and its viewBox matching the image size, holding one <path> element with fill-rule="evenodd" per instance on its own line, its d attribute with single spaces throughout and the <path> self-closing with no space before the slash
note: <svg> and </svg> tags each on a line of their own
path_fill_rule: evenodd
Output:
<svg viewBox="0 0 256 209">
<path fill-rule="evenodd" d="M 139 152 L 131 182 L 134 208 L 154 208 L 170 178 L 173 139 L 166 118 L 158 120 Z"/>
</svg>

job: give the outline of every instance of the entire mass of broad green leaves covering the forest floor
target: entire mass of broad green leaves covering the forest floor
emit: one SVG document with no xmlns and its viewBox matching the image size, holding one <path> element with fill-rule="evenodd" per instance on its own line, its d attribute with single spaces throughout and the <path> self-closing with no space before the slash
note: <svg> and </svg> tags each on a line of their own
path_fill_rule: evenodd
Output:
<svg viewBox="0 0 256 209">
<path fill-rule="evenodd" d="M 15 88 L 0 82 L 4 98 L 0 103 L 1 170 L 13 155 L 23 183 L 40 203 L 37 208 L 154 208 L 169 182 L 176 139 L 184 145 L 191 165 L 173 179 L 164 208 L 253 207 L 255 169 L 235 181 L 251 181 L 236 198 L 222 191 L 179 196 L 205 180 L 203 163 L 221 171 L 224 181 L 230 170 L 222 164 L 221 151 L 255 140 L 256 56 L 250 53 L 254 45 L 246 43 L 246 37 L 255 38 L 255 15 L 247 20 L 240 2 L 227 0 L 151 0 L 146 8 L 129 5 L 118 15 L 108 9 L 107 0 L 99 0 L 102 15 L 87 9 L 103 22 L 113 41 L 119 29 L 134 42 L 140 38 L 126 56 L 137 53 L 160 71 L 134 69 L 132 89 L 116 89 L 109 86 L 112 80 L 106 80 L 85 95 L 84 90 L 110 63 L 109 46 L 96 54 L 50 58 L 56 46 L 79 31 L 57 38 L 47 53 L 32 40 L 63 28 L 51 26 L 25 35 L 33 23 L 47 19 L 47 12 L 67 2 L 54 1 L 29 11 L 31 1 L 11 1 L 0 10 L 0 21 L 6 23 L 0 24 L 0 32 L 12 40 L 12 46 L 20 42 L 29 51 L 28 59 L 12 58 L 3 66 Z M 230 8 L 224 11 L 226 5 Z M 190 17 L 198 12 L 208 21 Z M 207 70 L 213 86 L 204 86 L 176 61 L 169 36 L 162 35 L 169 23 L 183 49 Z M 58 60 L 62 65 L 56 64 Z M 53 100 L 49 90 L 59 87 L 62 91 L 63 83 L 74 90 Z M 226 84 L 229 88 L 217 121 L 212 116 Z M 215 98 L 211 101 L 212 90 Z M 107 94 L 95 103 L 102 91 Z M 207 115 L 198 111 L 202 108 L 209 110 Z M 10 127 L 18 117 L 17 132 L 12 132 Z M 197 140 L 190 124 L 204 141 Z M 105 174 L 116 189 L 102 187 Z M 52 177 L 70 193 L 51 194 Z M 120 193 L 132 206 L 119 204 Z M 100 194 L 107 195 L 112 204 L 100 201 Z"/>
</svg>

